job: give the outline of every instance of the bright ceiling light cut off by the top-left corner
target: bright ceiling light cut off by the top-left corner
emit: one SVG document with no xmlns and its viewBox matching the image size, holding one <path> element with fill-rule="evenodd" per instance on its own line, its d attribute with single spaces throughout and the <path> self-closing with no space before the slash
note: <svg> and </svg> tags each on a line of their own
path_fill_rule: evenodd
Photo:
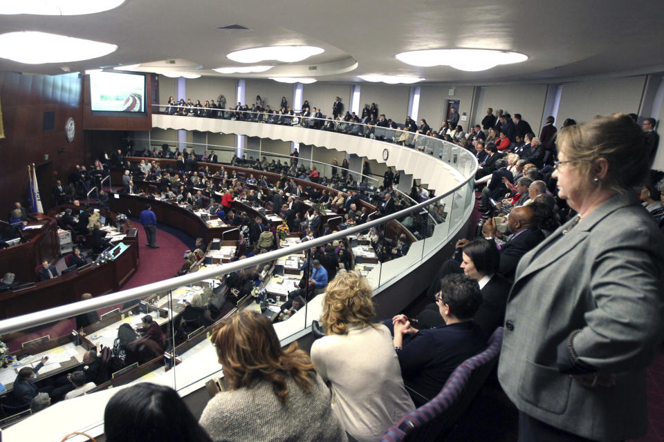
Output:
<svg viewBox="0 0 664 442">
<path fill-rule="evenodd" d="M 12 0 L 0 2 L 0 15 L 86 15 L 118 8 L 124 0 Z"/>
</svg>

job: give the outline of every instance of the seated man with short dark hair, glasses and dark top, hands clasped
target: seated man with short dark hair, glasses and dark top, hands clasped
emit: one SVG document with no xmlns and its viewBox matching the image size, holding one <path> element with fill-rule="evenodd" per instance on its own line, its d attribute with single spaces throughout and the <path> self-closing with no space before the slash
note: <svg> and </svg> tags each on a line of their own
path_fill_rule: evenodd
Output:
<svg viewBox="0 0 664 442">
<path fill-rule="evenodd" d="M 394 348 L 405 385 L 416 406 L 439 394 L 457 366 L 486 347 L 486 339 L 472 317 L 482 302 L 477 281 L 452 274 L 441 281 L 436 304 L 445 326 L 418 330 L 405 315 L 392 318 Z"/>
</svg>

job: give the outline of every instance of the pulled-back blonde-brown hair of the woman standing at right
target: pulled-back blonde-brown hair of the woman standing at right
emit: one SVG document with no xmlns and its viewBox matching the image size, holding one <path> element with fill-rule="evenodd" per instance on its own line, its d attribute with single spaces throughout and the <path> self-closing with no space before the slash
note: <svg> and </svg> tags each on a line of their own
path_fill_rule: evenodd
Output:
<svg viewBox="0 0 664 442">
<path fill-rule="evenodd" d="M 557 133 L 557 146 L 567 160 L 593 185 L 591 169 L 600 158 L 609 170 L 601 183 L 616 193 L 631 193 L 648 176 L 649 153 L 645 132 L 623 113 L 604 115 L 583 124 L 573 124 Z"/>
</svg>

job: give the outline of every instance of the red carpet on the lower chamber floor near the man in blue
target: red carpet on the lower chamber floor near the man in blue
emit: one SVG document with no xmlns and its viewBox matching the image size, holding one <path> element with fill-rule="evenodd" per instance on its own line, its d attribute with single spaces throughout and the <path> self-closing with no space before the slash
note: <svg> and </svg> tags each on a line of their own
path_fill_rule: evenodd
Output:
<svg viewBox="0 0 664 442">
<path fill-rule="evenodd" d="M 127 284 L 122 287 L 123 289 L 131 289 L 140 285 L 146 285 L 150 282 L 157 282 L 172 278 L 183 265 L 183 253 L 189 248 L 182 240 L 178 239 L 171 233 L 167 233 L 162 229 L 157 229 L 157 245 L 159 249 L 150 249 L 145 237 L 145 230 L 137 222 L 133 222 L 138 226 L 138 244 L 139 244 L 139 257 L 138 269 L 136 273 L 129 279 Z M 122 307 L 116 305 L 100 309 L 98 314 L 102 315 L 107 311 Z M 21 348 L 21 343 L 28 340 L 39 338 L 41 336 L 50 335 L 51 339 L 59 336 L 64 336 L 75 329 L 75 321 L 73 319 L 61 320 L 47 326 L 39 327 L 39 329 L 30 330 L 19 339 L 9 340 L 8 345 L 11 352 Z"/>
</svg>

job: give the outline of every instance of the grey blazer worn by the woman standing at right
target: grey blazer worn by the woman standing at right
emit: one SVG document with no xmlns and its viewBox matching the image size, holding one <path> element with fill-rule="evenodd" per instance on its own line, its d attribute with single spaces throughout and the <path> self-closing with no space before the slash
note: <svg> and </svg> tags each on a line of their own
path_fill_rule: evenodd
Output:
<svg viewBox="0 0 664 442">
<path fill-rule="evenodd" d="M 549 425 L 598 441 L 637 439 L 647 431 L 645 369 L 663 337 L 664 237 L 623 195 L 564 235 L 573 222 L 519 262 L 499 381 L 519 410 Z M 580 361 L 615 374 L 614 387 L 582 387 L 566 374 L 557 350 L 569 352 L 574 330 Z"/>
</svg>

